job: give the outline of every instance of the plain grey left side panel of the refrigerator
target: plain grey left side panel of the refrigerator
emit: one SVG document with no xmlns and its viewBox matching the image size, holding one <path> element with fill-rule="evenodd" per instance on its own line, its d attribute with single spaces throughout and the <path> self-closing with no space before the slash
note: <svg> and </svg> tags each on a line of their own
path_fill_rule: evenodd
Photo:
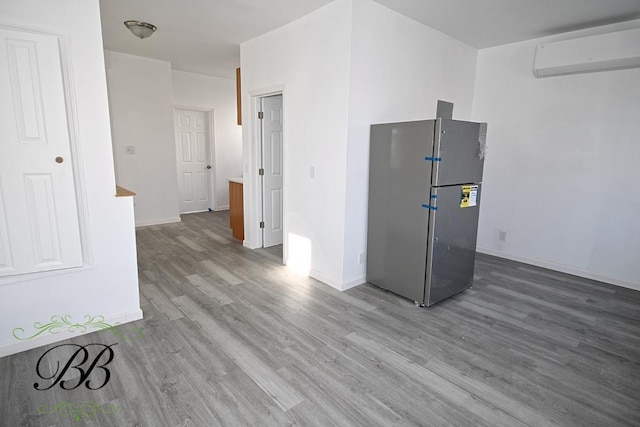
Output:
<svg viewBox="0 0 640 427">
<path fill-rule="evenodd" d="M 373 125 L 367 281 L 424 300 L 433 120 Z"/>
</svg>

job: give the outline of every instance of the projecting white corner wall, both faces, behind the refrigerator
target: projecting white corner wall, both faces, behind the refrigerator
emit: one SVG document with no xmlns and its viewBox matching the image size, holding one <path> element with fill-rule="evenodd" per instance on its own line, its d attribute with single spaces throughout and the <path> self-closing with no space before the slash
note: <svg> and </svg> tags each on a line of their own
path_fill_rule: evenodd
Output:
<svg viewBox="0 0 640 427">
<path fill-rule="evenodd" d="M 469 119 L 476 58 L 371 0 L 338 0 L 241 46 L 245 153 L 254 131 L 247 93 L 285 88 L 285 222 L 310 239 L 313 277 L 342 290 L 365 281 L 370 125 L 433 118 L 438 99 Z M 254 162 L 245 157 L 246 205 L 258 188 Z M 259 206 L 250 209 L 253 246 Z M 289 246 L 285 236 L 285 256 Z"/>
</svg>

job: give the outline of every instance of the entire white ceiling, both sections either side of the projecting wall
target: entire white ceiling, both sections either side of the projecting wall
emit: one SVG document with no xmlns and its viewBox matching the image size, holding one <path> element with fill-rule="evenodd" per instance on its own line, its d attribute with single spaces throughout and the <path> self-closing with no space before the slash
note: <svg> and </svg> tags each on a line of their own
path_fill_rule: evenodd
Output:
<svg viewBox="0 0 640 427">
<path fill-rule="evenodd" d="M 376 0 L 477 48 L 640 18 L 640 0 Z M 331 0 L 100 0 L 105 49 L 233 78 L 240 43 Z M 135 38 L 129 19 L 158 27 Z"/>
</svg>

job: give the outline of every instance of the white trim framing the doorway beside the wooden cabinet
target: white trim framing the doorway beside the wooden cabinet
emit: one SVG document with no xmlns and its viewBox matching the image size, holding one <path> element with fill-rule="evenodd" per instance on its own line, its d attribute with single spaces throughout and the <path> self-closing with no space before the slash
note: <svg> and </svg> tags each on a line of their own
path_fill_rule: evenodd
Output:
<svg viewBox="0 0 640 427">
<path fill-rule="evenodd" d="M 260 221 L 262 220 L 263 209 L 263 188 L 260 176 L 258 175 L 258 169 L 262 162 L 262 146 L 260 140 L 260 134 L 262 132 L 260 126 L 260 120 L 258 119 L 258 112 L 260 111 L 260 99 L 273 95 L 282 95 L 282 259 L 287 259 L 288 245 L 287 245 L 287 109 L 286 109 L 286 91 L 284 86 L 276 86 L 265 88 L 261 90 L 252 90 L 249 92 L 251 97 L 251 160 L 249 162 L 247 174 L 247 180 L 245 180 L 245 186 L 247 184 L 251 186 L 253 191 L 246 191 L 245 187 L 245 230 L 251 229 L 252 235 L 256 236 L 254 242 L 246 240 L 248 233 L 245 232 L 244 246 L 257 249 L 262 248 L 264 245 L 264 239 L 262 230 L 260 229 Z"/>
</svg>

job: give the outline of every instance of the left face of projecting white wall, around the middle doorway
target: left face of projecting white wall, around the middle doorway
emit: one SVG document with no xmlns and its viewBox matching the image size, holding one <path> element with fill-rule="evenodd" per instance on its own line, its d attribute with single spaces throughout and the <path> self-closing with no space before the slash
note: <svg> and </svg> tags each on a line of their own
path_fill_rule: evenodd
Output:
<svg viewBox="0 0 640 427">
<path fill-rule="evenodd" d="M 343 282 L 350 31 L 351 2 L 337 0 L 240 46 L 245 245 L 259 242 L 251 95 L 283 90 L 285 257 L 300 253 L 295 242 L 307 242 L 311 275 L 337 288 Z"/>
</svg>

